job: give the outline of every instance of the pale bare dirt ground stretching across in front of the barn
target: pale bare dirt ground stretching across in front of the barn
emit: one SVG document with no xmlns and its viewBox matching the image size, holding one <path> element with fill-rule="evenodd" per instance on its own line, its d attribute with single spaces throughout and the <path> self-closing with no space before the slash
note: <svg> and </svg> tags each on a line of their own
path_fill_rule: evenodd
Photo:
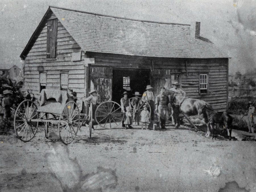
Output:
<svg viewBox="0 0 256 192">
<path fill-rule="evenodd" d="M 256 191 L 255 142 L 167 128 L 82 127 L 68 146 L 0 136 L 0 191 Z"/>
</svg>

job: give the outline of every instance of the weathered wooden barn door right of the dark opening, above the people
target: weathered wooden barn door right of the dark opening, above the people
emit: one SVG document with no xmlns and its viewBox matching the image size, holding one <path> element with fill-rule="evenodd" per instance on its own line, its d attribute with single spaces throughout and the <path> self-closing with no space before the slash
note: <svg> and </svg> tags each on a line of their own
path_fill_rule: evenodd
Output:
<svg viewBox="0 0 256 192">
<path fill-rule="evenodd" d="M 160 94 L 160 87 L 164 87 L 167 90 L 172 88 L 172 77 L 170 74 L 170 69 L 154 69 L 153 92 L 155 96 Z"/>
</svg>

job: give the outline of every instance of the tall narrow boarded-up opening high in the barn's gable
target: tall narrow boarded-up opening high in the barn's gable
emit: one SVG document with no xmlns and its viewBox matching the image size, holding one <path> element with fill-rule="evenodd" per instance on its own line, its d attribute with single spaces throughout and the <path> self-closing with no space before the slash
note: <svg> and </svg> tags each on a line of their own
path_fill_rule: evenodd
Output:
<svg viewBox="0 0 256 192">
<path fill-rule="evenodd" d="M 56 57 L 57 27 L 57 19 L 51 19 L 47 21 L 47 58 Z"/>
</svg>

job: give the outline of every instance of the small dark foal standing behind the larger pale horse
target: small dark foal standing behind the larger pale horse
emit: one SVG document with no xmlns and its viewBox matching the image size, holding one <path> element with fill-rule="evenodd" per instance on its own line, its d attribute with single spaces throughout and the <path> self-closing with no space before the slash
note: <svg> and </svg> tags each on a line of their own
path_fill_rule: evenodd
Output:
<svg viewBox="0 0 256 192">
<path fill-rule="evenodd" d="M 212 131 L 212 138 L 216 137 L 215 135 L 215 123 L 219 123 L 220 126 L 223 126 L 223 128 L 226 128 L 226 131 L 229 131 L 229 141 L 231 140 L 231 132 L 232 132 L 232 121 L 233 118 L 226 112 L 224 113 L 217 113 L 212 108 L 208 108 L 208 106 L 203 106 L 205 108 L 205 113 L 207 114 L 211 131 Z"/>
</svg>

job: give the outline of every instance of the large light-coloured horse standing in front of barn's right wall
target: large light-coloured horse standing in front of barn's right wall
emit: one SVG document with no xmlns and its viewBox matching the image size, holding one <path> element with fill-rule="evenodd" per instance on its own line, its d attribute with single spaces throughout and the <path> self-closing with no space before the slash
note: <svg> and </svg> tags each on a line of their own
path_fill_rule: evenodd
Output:
<svg viewBox="0 0 256 192">
<path fill-rule="evenodd" d="M 208 121 L 206 108 L 204 107 L 207 106 L 208 108 L 212 108 L 210 104 L 203 100 L 179 95 L 171 90 L 167 90 L 166 94 L 169 96 L 172 108 L 174 110 L 175 118 L 177 119 L 177 125 L 175 127 L 176 129 L 179 128 L 180 125 L 180 112 L 184 113 L 187 116 L 201 115 L 205 121 L 205 124 L 207 125 L 207 133 L 205 134 L 205 136 L 210 136 L 210 123 Z"/>
</svg>

